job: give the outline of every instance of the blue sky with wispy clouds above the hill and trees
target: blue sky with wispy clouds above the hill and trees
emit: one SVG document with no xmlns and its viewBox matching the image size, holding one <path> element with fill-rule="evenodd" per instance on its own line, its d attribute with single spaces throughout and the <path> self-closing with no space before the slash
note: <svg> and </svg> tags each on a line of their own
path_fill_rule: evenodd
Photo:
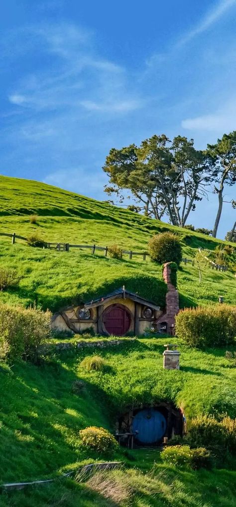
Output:
<svg viewBox="0 0 236 507">
<path fill-rule="evenodd" d="M 112 147 L 235 130 L 235 19 L 236 0 L 3 2 L 1 172 L 104 200 Z M 216 204 L 189 223 L 212 228 Z M 235 216 L 225 204 L 220 237 Z"/>
</svg>

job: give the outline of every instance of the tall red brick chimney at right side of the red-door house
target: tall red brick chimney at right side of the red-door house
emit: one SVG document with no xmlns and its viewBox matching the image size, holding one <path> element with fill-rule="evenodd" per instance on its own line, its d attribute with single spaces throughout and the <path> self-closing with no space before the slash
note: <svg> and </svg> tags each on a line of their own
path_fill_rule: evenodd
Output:
<svg viewBox="0 0 236 507">
<path fill-rule="evenodd" d="M 175 333 L 175 315 L 179 312 L 178 291 L 171 283 L 171 262 L 164 264 L 163 278 L 167 284 L 166 310 L 158 319 L 158 327 L 162 329 L 162 323 L 166 323 L 166 333 L 172 336 Z"/>
</svg>

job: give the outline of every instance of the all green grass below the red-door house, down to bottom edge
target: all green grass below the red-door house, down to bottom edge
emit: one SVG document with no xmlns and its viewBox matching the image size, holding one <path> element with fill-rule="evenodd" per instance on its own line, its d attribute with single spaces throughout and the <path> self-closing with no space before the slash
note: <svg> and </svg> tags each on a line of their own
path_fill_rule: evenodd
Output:
<svg viewBox="0 0 236 507">
<path fill-rule="evenodd" d="M 92 424 L 114 431 L 117 414 L 140 403 L 172 400 L 184 409 L 187 419 L 202 412 L 225 411 L 234 417 L 235 369 L 228 365 L 224 351 L 189 351 L 182 346 L 180 371 L 168 372 L 162 368 L 164 341 L 145 339 L 112 351 L 100 349 L 110 367 L 104 374 L 88 373 L 79 367 L 85 350 L 79 350 L 76 355 L 63 353 L 45 358 L 38 367 L 23 363 L 3 367 L 0 370 L 4 392 L 0 412 L 0 453 L 4 456 L 0 465 L 1 482 L 57 477 L 60 472 L 77 468 L 86 457 L 78 446 L 79 429 Z M 84 382 L 79 394 L 72 393 L 75 380 Z M 116 480 L 123 483 L 129 477 L 135 486 L 139 494 L 132 505 L 190 506 L 193 498 L 199 507 L 234 504 L 235 473 L 230 470 L 184 472 L 164 467 L 158 450 L 135 450 L 128 455 L 124 451 L 120 449 L 113 459 L 122 460 L 129 473 L 116 475 Z M 91 456 L 92 461 L 96 458 L 99 459 Z M 156 467 L 150 474 L 155 461 Z M 219 488 L 221 494 L 217 498 Z M 154 490 L 158 494 L 153 497 Z M 66 505 L 71 506 L 90 507 L 92 502 L 110 507 L 127 505 L 125 501 L 109 502 L 91 484 L 76 486 L 72 481 L 59 481 L 45 490 L 33 488 L 26 493 L 3 495 L 0 504 L 60 505 L 64 495 Z"/>
</svg>

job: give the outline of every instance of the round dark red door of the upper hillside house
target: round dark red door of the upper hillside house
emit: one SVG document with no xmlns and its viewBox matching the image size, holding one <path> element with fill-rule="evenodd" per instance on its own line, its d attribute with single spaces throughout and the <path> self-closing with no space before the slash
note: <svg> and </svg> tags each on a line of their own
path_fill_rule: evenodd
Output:
<svg viewBox="0 0 236 507">
<path fill-rule="evenodd" d="M 122 336 L 129 330 L 130 315 L 125 307 L 111 305 L 106 310 L 103 321 L 110 335 Z"/>
</svg>

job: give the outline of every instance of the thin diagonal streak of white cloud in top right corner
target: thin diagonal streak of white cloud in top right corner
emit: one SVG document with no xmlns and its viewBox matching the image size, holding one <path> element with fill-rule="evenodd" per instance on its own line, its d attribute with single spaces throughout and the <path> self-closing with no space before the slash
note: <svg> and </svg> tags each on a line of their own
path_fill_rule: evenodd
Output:
<svg viewBox="0 0 236 507">
<path fill-rule="evenodd" d="M 197 35 L 208 30 L 208 28 L 219 21 L 220 18 L 235 5 L 236 0 L 221 0 L 215 4 L 213 9 L 210 10 L 197 25 L 183 34 L 183 37 L 177 42 L 177 47 L 183 46 L 191 39 L 197 37 Z"/>
</svg>

